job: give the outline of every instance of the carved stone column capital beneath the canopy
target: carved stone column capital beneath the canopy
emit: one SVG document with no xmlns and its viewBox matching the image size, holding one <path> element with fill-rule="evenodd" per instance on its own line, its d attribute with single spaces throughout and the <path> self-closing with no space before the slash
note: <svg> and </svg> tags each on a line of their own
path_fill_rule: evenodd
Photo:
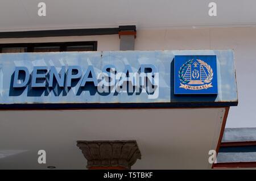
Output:
<svg viewBox="0 0 256 181">
<path fill-rule="evenodd" d="M 87 159 L 87 168 L 131 166 L 141 159 L 137 142 L 131 141 L 77 141 L 77 146 Z"/>
</svg>

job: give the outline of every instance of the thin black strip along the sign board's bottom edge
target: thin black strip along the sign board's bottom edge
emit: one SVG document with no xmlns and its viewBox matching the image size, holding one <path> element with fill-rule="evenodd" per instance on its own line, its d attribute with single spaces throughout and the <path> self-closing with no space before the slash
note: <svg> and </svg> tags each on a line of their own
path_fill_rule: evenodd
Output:
<svg viewBox="0 0 256 181">
<path fill-rule="evenodd" d="M 197 102 L 197 103 L 68 103 L 68 104 L 0 104 L 0 110 L 48 110 L 48 109 L 95 109 L 95 108 L 189 108 L 229 107 L 238 102 Z"/>
</svg>

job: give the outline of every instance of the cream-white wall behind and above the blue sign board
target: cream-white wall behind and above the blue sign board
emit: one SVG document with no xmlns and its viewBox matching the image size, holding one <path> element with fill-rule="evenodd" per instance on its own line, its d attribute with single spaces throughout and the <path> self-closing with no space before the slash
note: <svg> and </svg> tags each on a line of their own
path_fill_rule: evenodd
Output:
<svg viewBox="0 0 256 181">
<path fill-rule="evenodd" d="M 118 35 L 0 39 L 0 43 L 94 40 L 98 50 L 119 50 Z M 230 109 L 226 127 L 256 127 L 256 28 L 138 30 L 135 49 L 234 49 L 239 103 Z"/>
</svg>

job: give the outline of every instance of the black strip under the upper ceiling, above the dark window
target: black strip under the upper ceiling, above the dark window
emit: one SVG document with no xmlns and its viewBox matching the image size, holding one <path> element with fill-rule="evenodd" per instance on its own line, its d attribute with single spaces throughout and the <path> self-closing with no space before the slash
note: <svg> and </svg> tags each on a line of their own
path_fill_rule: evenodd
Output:
<svg viewBox="0 0 256 181">
<path fill-rule="evenodd" d="M 49 37 L 49 36 L 90 36 L 116 35 L 119 31 L 136 31 L 136 26 L 119 26 L 118 28 L 86 28 L 67 30 L 39 30 L 0 32 L 0 38 Z"/>
</svg>

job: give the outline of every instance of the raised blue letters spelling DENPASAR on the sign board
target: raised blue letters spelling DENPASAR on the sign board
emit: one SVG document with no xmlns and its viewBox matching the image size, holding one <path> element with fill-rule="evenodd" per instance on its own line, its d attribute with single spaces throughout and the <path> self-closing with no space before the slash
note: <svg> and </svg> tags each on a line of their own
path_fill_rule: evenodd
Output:
<svg viewBox="0 0 256 181">
<path fill-rule="evenodd" d="M 72 87 L 80 91 L 97 89 L 100 95 L 145 93 L 148 99 L 156 99 L 159 95 L 159 73 L 152 64 L 142 64 L 136 71 L 130 65 L 125 65 L 121 72 L 114 65 L 106 65 L 97 75 L 91 65 L 86 69 L 75 65 L 61 68 L 33 66 L 31 71 L 25 66 L 18 66 L 13 75 L 13 88 L 25 90 L 26 87 L 32 90 L 46 89 L 48 92 L 54 89 L 69 92 Z"/>
</svg>

